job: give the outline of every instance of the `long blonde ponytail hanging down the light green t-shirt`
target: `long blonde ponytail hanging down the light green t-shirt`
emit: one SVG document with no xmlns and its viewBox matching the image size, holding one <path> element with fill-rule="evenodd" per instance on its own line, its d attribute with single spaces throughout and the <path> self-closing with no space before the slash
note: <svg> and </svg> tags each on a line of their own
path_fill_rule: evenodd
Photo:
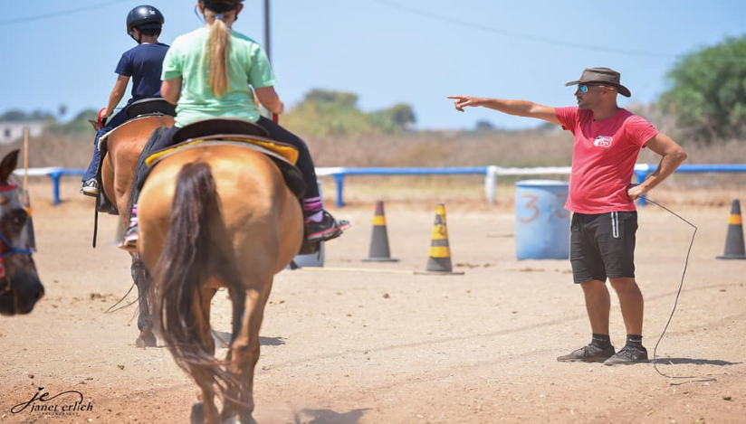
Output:
<svg viewBox="0 0 746 424">
<path fill-rule="evenodd" d="M 235 12 L 225 12 L 223 19 L 216 19 L 215 12 L 205 11 L 205 21 L 210 22 L 210 41 L 208 42 L 210 58 L 210 88 L 215 97 L 222 97 L 228 90 L 228 56 L 231 52 L 231 28 L 223 19 L 235 17 Z M 233 19 L 231 19 L 233 21 Z"/>
</svg>

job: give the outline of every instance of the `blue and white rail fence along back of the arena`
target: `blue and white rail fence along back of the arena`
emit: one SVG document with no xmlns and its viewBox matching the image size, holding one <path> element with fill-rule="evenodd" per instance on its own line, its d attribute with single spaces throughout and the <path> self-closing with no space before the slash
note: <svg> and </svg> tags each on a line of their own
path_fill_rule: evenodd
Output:
<svg viewBox="0 0 746 424">
<path fill-rule="evenodd" d="M 657 165 L 637 164 L 635 165 L 635 175 L 638 183 L 642 183 L 653 174 Z M 84 169 L 64 169 L 60 167 L 50 168 L 33 168 L 28 170 L 29 175 L 46 175 L 52 179 L 53 203 L 60 204 L 60 179 L 65 175 L 82 175 Z M 730 165 L 681 165 L 676 169 L 676 173 L 744 173 L 746 164 Z M 16 169 L 15 174 L 23 175 L 23 169 Z M 488 202 L 493 201 L 494 185 L 497 183 L 496 178 L 500 175 L 537 175 L 537 174 L 569 174 L 569 166 L 558 167 L 536 167 L 536 168 L 502 168 L 500 166 L 455 166 L 445 168 L 347 168 L 347 167 L 321 167 L 316 169 L 316 174 L 320 176 L 330 176 L 336 183 L 338 207 L 344 206 L 344 180 L 350 175 L 457 175 L 472 174 L 484 175 L 485 192 Z M 644 199 L 640 199 L 641 205 L 645 204 Z"/>
</svg>

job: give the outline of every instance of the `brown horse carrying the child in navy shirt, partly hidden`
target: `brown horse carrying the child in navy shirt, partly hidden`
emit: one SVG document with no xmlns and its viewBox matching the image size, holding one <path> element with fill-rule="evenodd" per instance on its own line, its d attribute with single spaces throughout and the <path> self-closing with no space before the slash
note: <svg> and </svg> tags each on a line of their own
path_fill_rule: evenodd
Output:
<svg viewBox="0 0 746 424">
<path fill-rule="evenodd" d="M 171 127 L 173 125 L 173 117 L 149 115 L 129 120 L 102 137 L 106 143 L 107 153 L 101 164 L 101 183 L 106 197 L 111 203 L 114 203 L 120 212 L 122 228 L 126 228 L 129 223 L 129 192 L 133 184 L 139 156 L 148 142 L 148 137 L 158 127 Z M 139 347 L 154 347 L 157 344 L 157 339 L 153 334 L 153 320 L 144 296 L 150 276 L 139 256 L 137 254 L 131 256 L 130 272 L 139 292 L 138 328 L 140 334 L 135 344 Z"/>
</svg>

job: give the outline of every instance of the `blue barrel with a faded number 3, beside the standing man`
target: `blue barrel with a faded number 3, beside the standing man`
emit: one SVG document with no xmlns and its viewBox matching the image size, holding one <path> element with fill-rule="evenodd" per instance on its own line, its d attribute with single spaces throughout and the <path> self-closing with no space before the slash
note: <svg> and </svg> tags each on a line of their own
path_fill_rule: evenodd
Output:
<svg viewBox="0 0 746 424">
<path fill-rule="evenodd" d="M 515 255 L 518 259 L 568 259 L 568 183 L 524 180 L 515 184 Z"/>
</svg>

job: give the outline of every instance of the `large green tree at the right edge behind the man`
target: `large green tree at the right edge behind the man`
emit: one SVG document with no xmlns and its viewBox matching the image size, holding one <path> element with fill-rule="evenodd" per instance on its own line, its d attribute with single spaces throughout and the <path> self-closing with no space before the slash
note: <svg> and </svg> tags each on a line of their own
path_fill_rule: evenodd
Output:
<svg viewBox="0 0 746 424">
<path fill-rule="evenodd" d="M 706 143 L 746 136 L 746 36 L 688 54 L 667 77 L 661 106 L 679 130 Z"/>
</svg>

